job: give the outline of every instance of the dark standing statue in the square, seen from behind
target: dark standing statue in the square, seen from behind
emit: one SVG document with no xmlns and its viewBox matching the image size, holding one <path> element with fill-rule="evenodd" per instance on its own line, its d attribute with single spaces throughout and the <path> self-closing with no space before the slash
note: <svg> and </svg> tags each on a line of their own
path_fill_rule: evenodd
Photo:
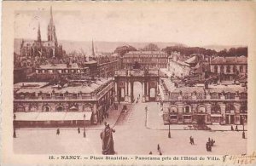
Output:
<svg viewBox="0 0 256 166">
<path fill-rule="evenodd" d="M 113 133 L 114 132 L 115 130 L 110 128 L 109 124 L 105 123 L 105 129 L 101 133 L 103 155 L 113 155 L 115 153 L 113 150 Z"/>
</svg>

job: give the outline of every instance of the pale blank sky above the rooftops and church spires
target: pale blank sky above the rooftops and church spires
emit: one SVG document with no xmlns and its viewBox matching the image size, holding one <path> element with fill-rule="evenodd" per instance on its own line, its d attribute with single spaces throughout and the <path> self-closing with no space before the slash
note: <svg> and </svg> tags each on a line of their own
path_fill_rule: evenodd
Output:
<svg viewBox="0 0 256 166">
<path fill-rule="evenodd" d="M 249 7 L 224 3 L 85 3 L 52 5 L 58 40 L 175 42 L 189 46 L 247 45 L 255 19 Z M 232 4 L 232 5 L 230 5 Z M 15 37 L 37 38 L 38 24 L 47 37 L 50 5 L 15 12 Z"/>
</svg>

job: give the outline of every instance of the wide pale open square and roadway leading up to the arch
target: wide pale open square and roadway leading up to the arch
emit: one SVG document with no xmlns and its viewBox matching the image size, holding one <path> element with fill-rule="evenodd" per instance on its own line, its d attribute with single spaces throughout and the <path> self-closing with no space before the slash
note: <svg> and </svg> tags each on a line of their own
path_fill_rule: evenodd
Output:
<svg viewBox="0 0 256 166">
<path fill-rule="evenodd" d="M 153 152 L 158 155 L 157 145 L 160 145 L 163 155 L 200 155 L 200 154 L 242 154 L 246 153 L 246 139 L 241 138 L 241 131 L 199 131 L 172 130 L 172 138 L 168 138 L 168 130 L 147 129 L 145 106 L 148 112 L 159 112 L 155 102 L 137 103 L 131 106 L 125 122 L 114 126 L 114 149 L 117 154 L 147 155 Z M 159 118 L 159 117 L 157 117 Z M 167 127 L 167 126 L 166 126 Z M 167 129 L 167 128 L 166 128 Z M 26 154 L 102 154 L 101 130 L 61 129 L 56 135 L 56 129 L 19 129 L 14 139 L 14 151 Z M 247 133 L 246 133 L 247 134 Z M 189 136 L 193 136 L 195 146 L 189 144 Z M 216 141 L 212 152 L 206 151 L 208 138 Z M 236 146 L 236 148 L 234 148 Z"/>
</svg>

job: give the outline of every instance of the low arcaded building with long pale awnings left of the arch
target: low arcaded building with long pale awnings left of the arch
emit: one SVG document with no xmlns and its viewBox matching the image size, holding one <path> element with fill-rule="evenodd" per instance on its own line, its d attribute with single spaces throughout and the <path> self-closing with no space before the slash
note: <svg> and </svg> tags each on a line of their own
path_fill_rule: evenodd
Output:
<svg viewBox="0 0 256 166">
<path fill-rule="evenodd" d="M 16 83 L 14 85 L 15 126 L 82 126 L 101 123 L 114 100 L 113 80 L 97 79 L 89 83 L 50 85 Z"/>
</svg>

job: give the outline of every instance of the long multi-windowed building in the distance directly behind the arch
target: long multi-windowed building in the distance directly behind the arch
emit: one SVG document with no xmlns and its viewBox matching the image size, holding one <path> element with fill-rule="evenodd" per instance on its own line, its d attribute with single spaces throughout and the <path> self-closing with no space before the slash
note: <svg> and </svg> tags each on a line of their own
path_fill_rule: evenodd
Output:
<svg viewBox="0 0 256 166">
<path fill-rule="evenodd" d="M 129 69 L 138 63 L 143 68 L 167 68 L 168 54 L 162 51 L 130 51 L 123 56 L 123 65 Z"/>
</svg>

